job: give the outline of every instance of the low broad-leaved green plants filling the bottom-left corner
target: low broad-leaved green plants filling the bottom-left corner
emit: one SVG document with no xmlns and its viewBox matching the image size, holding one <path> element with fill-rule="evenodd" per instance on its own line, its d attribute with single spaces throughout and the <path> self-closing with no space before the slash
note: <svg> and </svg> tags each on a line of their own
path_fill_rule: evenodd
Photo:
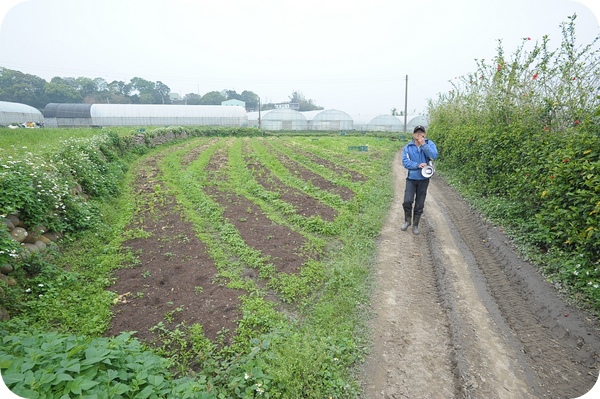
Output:
<svg viewBox="0 0 600 399">
<path fill-rule="evenodd" d="M 214 398 L 201 379 L 174 380 L 168 363 L 130 334 L 114 339 L 58 333 L 4 335 L 0 370 L 15 394 L 36 398 Z"/>
</svg>

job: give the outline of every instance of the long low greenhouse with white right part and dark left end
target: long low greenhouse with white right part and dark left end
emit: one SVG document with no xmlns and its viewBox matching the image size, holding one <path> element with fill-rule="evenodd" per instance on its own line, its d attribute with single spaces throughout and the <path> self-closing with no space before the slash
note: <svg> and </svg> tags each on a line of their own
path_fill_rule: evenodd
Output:
<svg viewBox="0 0 600 399">
<path fill-rule="evenodd" d="M 243 107 L 161 104 L 59 104 L 44 108 L 50 127 L 246 126 Z"/>
</svg>

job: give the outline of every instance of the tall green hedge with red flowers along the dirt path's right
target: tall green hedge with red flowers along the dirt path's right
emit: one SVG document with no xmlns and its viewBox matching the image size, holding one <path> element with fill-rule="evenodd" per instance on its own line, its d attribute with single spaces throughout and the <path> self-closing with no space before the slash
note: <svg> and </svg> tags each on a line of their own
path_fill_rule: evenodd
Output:
<svg viewBox="0 0 600 399">
<path fill-rule="evenodd" d="M 600 310 L 600 50 L 529 38 L 430 104 L 440 172 L 511 231 L 543 271 Z"/>
</svg>

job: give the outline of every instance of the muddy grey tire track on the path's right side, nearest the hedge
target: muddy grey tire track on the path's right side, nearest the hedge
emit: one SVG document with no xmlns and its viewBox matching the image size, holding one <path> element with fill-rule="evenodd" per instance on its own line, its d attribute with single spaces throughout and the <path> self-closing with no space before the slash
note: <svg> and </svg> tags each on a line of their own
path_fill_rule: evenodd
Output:
<svg viewBox="0 0 600 399">
<path fill-rule="evenodd" d="M 565 305 L 533 266 L 515 255 L 505 236 L 442 181 L 435 183 L 431 190 L 435 202 L 469 254 L 470 272 L 479 291 L 488 296 L 487 311 L 518 349 L 536 397 L 587 393 L 597 380 L 600 346 L 597 333 L 584 325 L 585 315 Z"/>
</svg>

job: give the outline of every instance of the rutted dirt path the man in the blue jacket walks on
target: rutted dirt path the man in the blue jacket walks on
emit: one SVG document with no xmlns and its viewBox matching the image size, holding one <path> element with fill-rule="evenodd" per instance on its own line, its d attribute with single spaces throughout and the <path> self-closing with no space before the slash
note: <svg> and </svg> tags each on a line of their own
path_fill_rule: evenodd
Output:
<svg viewBox="0 0 600 399">
<path fill-rule="evenodd" d="M 405 170 L 381 234 L 368 398 L 575 398 L 598 377 L 593 320 L 434 176 L 402 232 Z"/>
</svg>

